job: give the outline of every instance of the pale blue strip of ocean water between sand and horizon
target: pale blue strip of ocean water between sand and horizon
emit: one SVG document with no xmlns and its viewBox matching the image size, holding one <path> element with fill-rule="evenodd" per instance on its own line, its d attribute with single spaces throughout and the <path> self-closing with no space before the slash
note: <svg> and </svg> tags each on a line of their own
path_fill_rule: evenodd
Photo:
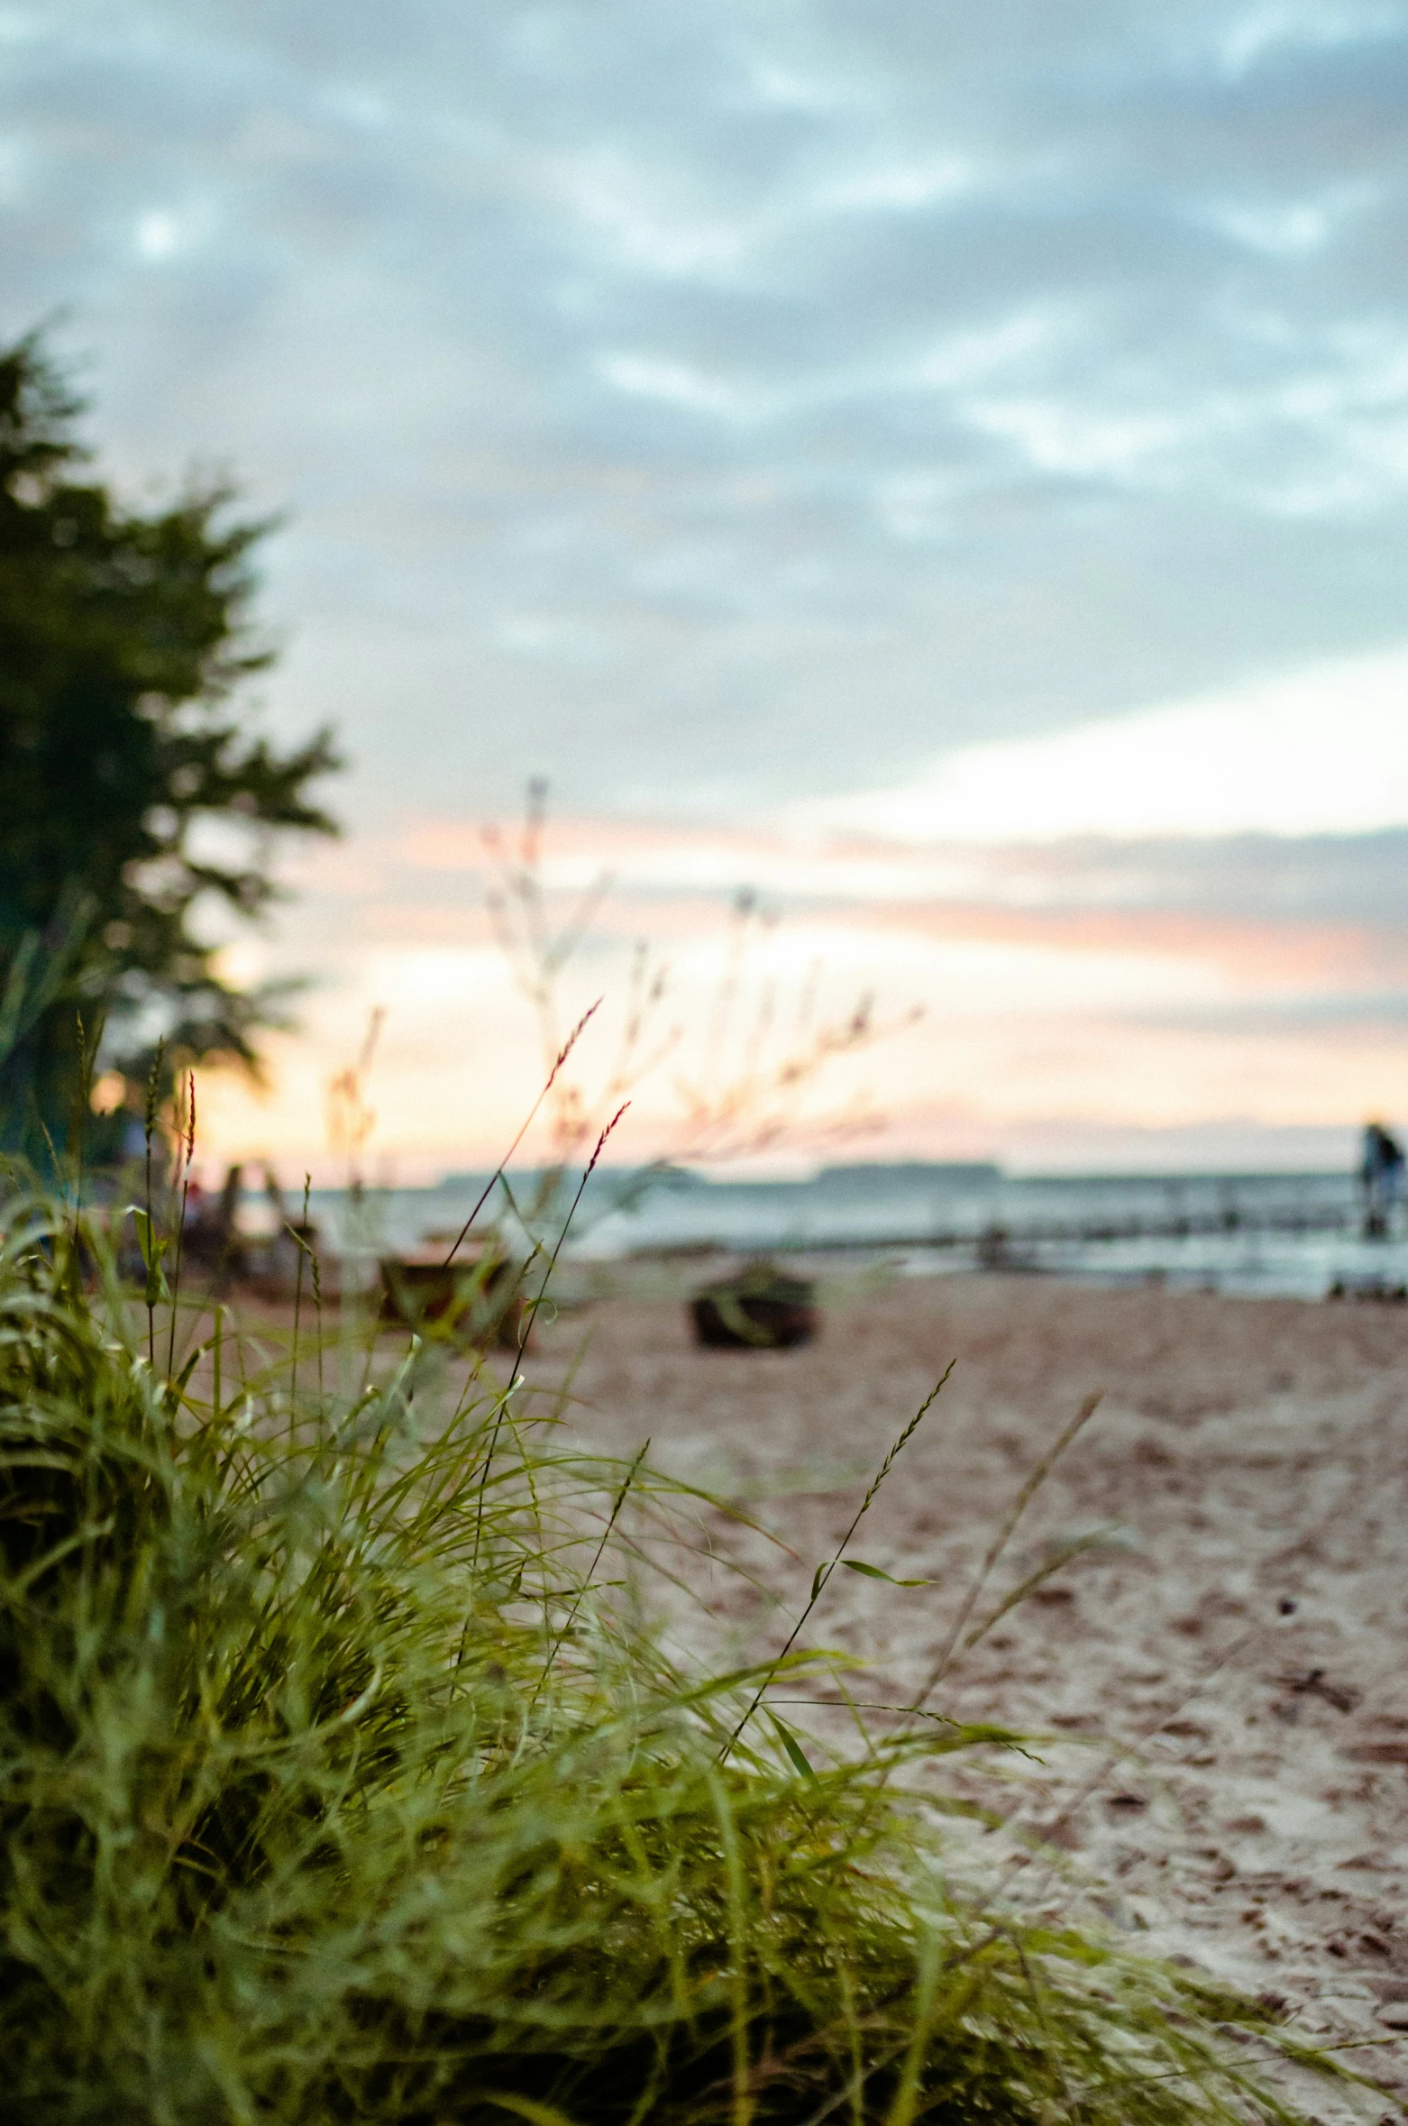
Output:
<svg viewBox="0 0 1408 2126">
<path fill-rule="evenodd" d="M 347 1252 L 408 1250 L 468 1218 L 487 1176 L 374 1193 L 359 1222 L 338 1191 L 313 1197 L 328 1242 Z M 515 1178 L 527 1205 L 534 1176 Z M 493 1197 L 493 1203 L 502 1197 Z M 489 1210 L 483 1214 L 489 1216 Z M 547 1239 L 566 1201 L 530 1218 Z M 483 1222 L 483 1218 L 481 1218 Z M 564 1256 L 787 1252 L 825 1267 L 885 1261 L 906 1276 L 974 1267 L 1095 1282 L 1163 1280 L 1185 1288 L 1321 1299 L 1331 1284 L 1408 1286 L 1408 1218 L 1365 1239 L 1348 1174 L 1010 1176 L 998 1167 L 836 1165 L 810 1180 L 706 1180 L 598 1171 Z M 521 1250 L 525 1231 L 504 1210 Z"/>
</svg>

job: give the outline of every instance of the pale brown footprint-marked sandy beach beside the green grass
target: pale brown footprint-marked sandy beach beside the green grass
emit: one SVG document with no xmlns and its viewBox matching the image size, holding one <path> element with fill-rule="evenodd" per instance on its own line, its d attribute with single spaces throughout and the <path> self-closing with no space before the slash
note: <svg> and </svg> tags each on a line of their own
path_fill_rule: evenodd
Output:
<svg viewBox="0 0 1408 2126">
<path fill-rule="evenodd" d="M 806 1350 L 698 1352 L 678 1301 L 621 1297 L 547 1327 L 530 1382 L 572 1363 L 585 1444 L 651 1435 L 659 1465 L 785 1535 L 778 1605 L 708 1582 L 738 1641 L 768 1646 L 951 1361 L 855 1543 L 929 1584 L 838 1573 L 808 1637 L 864 1650 L 870 1697 L 912 1697 L 1025 1473 L 1100 1393 L 993 1594 L 1112 1533 L 934 1707 L 1044 1737 L 1019 1818 L 1108 1884 L 1108 1920 L 1308 2035 L 1372 2041 L 1346 2058 L 1406 2096 L 1408 1307 L 936 1278 L 829 1305 Z"/>
</svg>

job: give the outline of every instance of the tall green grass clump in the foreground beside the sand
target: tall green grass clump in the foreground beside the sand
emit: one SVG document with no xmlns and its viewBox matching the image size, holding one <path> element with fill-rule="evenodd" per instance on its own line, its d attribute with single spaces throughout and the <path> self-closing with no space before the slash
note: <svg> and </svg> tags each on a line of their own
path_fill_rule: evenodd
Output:
<svg viewBox="0 0 1408 2126">
<path fill-rule="evenodd" d="M 772 1671 L 666 1658 L 649 1461 L 434 1342 L 379 1378 L 308 1346 L 296 1397 L 287 1354 L 228 1337 L 215 1388 L 153 1348 L 13 1195 L 4 2117 L 1297 2117 L 1261 2009 L 966 1884 L 938 1758 L 983 1737 L 832 1760 Z"/>
</svg>

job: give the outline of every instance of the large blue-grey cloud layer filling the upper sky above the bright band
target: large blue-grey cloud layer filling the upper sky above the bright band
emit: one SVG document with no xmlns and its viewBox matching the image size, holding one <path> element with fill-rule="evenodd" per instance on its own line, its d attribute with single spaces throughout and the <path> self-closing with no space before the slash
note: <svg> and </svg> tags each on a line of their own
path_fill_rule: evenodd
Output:
<svg viewBox="0 0 1408 2126">
<path fill-rule="evenodd" d="M 2 317 L 285 504 L 357 808 L 727 812 L 1408 634 L 1408 9 L 0 9 Z"/>
</svg>

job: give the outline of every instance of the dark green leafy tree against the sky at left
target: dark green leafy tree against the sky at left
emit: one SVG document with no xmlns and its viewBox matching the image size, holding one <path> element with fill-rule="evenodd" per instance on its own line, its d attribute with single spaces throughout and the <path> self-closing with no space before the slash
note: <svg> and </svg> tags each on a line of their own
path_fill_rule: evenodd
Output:
<svg viewBox="0 0 1408 2126">
<path fill-rule="evenodd" d="M 221 976 L 213 918 L 268 908 L 283 831 L 336 833 L 308 797 L 332 733 L 281 755 L 232 706 L 270 663 L 270 525 L 213 483 L 123 508 L 81 476 L 81 412 L 36 336 L 0 351 L 0 1146 L 30 1152 L 83 1097 L 77 1014 L 128 1108 L 157 1040 L 168 1072 L 257 1072 L 279 999 Z"/>
</svg>

